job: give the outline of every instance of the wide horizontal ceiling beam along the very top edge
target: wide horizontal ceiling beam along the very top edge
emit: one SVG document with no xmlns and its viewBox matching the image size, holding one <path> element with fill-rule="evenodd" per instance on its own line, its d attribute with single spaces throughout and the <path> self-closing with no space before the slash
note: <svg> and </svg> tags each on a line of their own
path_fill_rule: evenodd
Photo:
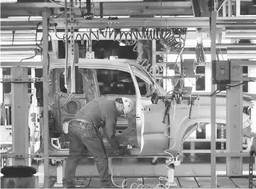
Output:
<svg viewBox="0 0 256 189">
<path fill-rule="evenodd" d="M 16 3 L 1 4 L 1 18 L 8 16 L 36 16 L 42 14 L 42 8 L 52 8 L 52 15 L 61 14 L 62 6 L 53 3 Z M 123 2 L 103 3 L 104 16 L 130 16 L 130 15 L 160 15 L 160 2 Z M 94 4 L 94 16 L 100 16 L 100 4 Z M 10 11 L 11 10 L 11 11 Z M 80 9 L 74 8 L 74 13 L 81 16 Z M 193 16 L 190 1 L 162 2 L 162 15 Z"/>
</svg>

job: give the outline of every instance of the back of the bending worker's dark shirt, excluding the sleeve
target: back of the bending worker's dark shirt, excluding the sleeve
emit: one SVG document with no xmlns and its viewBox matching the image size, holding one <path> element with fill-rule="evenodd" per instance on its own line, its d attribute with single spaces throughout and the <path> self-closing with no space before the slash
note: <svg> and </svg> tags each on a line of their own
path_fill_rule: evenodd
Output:
<svg viewBox="0 0 256 189">
<path fill-rule="evenodd" d="M 107 98 L 97 98 L 84 105 L 74 115 L 75 119 L 87 120 L 94 122 L 97 127 L 105 125 L 108 117 L 117 117 L 117 110 L 114 101 L 109 101 Z"/>
</svg>

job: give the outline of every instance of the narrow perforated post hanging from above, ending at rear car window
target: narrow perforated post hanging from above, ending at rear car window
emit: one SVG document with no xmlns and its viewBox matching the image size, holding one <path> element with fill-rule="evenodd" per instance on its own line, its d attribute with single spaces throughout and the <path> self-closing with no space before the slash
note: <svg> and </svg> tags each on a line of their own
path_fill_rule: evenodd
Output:
<svg viewBox="0 0 256 189">
<path fill-rule="evenodd" d="M 70 47 L 71 47 L 71 91 L 70 93 L 75 93 L 76 83 L 75 83 L 75 67 L 74 67 L 74 0 L 70 0 L 69 6 L 69 23 L 70 23 Z"/>
</svg>

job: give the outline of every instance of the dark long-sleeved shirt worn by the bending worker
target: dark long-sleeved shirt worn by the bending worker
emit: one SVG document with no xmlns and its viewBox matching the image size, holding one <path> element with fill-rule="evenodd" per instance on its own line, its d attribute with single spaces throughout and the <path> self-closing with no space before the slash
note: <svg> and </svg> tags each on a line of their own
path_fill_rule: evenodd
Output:
<svg viewBox="0 0 256 189">
<path fill-rule="evenodd" d="M 87 103 L 74 115 L 74 119 L 94 122 L 98 128 L 104 127 L 108 142 L 113 149 L 118 149 L 119 146 L 115 137 L 117 117 L 118 111 L 115 102 L 106 98 L 98 98 Z"/>
</svg>

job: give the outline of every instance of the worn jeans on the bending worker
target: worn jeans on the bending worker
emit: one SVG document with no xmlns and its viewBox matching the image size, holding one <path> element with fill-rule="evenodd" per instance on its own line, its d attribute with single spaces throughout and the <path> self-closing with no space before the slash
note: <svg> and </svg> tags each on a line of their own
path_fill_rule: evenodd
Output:
<svg viewBox="0 0 256 189">
<path fill-rule="evenodd" d="M 95 128 L 90 124 L 72 121 L 69 124 L 69 156 L 67 157 L 65 178 L 63 180 L 65 187 L 74 186 L 74 176 L 84 145 L 94 157 L 102 185 L 109 185 L 111 175 L 108 173 L 108 159 L 104 154 L 104 149 Z"/>
</svg>

